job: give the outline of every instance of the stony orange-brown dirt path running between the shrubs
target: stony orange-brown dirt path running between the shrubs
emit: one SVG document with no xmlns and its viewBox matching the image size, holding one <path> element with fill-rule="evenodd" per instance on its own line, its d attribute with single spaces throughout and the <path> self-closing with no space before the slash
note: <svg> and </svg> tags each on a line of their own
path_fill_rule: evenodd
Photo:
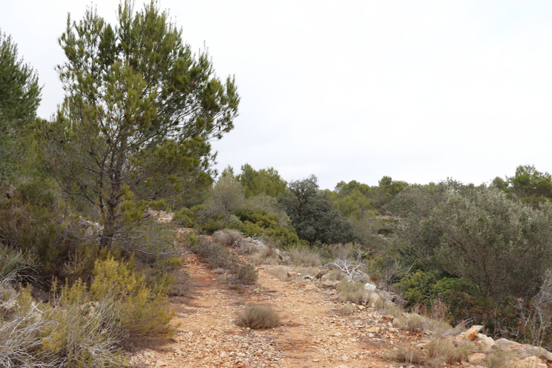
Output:
<svg viewBox="0 0 552 368">
<path fill-rule="evenodd" d="M 379 358 L 394 340 L 388 321 L 366 310 L 335 316 L 341 304 L 312 283 L 282 281 L 261 267 L 258 285 L 226 285 L 193 255 L 185 270 L 187 296 L 171 300 L 176 333 L 168 342 L 144 342 L 155 348 L 138 348 L 132 367 L 395 366 Z M 236 314 L 248 303 L 272 306 L 282 323 L 269 330 L 237 327 Z"/>
</svg>

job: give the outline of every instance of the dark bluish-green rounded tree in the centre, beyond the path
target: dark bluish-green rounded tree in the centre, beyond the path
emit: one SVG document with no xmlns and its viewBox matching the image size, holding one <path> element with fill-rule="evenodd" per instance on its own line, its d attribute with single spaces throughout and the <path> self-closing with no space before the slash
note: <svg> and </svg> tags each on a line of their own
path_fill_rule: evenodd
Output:
<svg viewBox="0 0 552 368">
<path fill-rule="evenodd" d="M 354 240 L 351 223 L 336 210 L 332 201 L 319 189 L 315 175 L 289 184 L 289 191 L 279 203 L 289 215 L 301 239 L 312 244 L 340 243 Z"/>
</svg>

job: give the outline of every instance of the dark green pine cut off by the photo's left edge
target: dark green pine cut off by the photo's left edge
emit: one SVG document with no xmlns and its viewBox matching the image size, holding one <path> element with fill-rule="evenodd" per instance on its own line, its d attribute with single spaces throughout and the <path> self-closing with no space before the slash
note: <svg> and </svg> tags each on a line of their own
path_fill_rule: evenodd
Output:
<svg viewBox="0 0 552 368">
<path fill-rule="evenodd" d="M 0 32 L 0 182 L 14 170 L 18 138 L 40 104 L 36 71 L 18 57 L 17 45 Z"/>
</svg>

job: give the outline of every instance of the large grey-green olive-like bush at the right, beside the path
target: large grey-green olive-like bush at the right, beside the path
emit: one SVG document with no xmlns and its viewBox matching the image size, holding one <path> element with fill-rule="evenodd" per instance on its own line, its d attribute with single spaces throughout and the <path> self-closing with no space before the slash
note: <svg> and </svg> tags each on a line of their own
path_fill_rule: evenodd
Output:
<svg viewBox="0 0 552 368">
<path fill-rule="evenodd" d="M 552 259 L 549 203 L 534 209 L 496 188 L 444 182 L 409 188 L 390 204 L 403 217 L 403 260 L 470 281 L 485 297 L 532 296 Z"/>
</svg>

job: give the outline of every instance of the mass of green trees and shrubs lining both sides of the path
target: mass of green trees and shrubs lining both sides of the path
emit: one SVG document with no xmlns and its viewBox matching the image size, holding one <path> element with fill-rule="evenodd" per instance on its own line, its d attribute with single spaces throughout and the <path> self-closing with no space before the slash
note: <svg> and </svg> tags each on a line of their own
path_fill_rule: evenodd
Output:
<svg viewBox="0 0 552 368">
<path fill-rule="evenodd" d="M 120 366 L 131 337 L 167 333 L 174 226 L 193 228 L 188 245 L 236 282 L 254 282 L 252 266 L 197 234 L 230 228 L 322 258 L 348 249 L 411 308 L 552 344 L 549 173 L 333 190 L 247 163 L 217 175 L 210 142 L 233 127 L 236 83 L 167 13 L 124 2 L 110 25 L 89 9 L 59 43 L 66 94 L 44 120 L 36 72 L 1 35 L 0 365 Z"/>
</svg>

